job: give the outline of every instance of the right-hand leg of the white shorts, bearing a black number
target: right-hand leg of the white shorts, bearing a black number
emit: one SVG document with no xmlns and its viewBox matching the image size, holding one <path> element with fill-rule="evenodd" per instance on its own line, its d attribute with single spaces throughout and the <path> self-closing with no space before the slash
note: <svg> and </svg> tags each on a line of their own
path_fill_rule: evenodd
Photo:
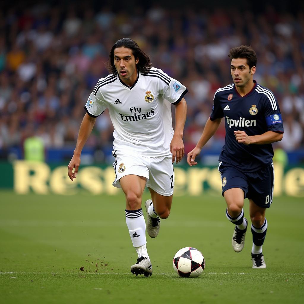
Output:
<svg viewBox="0 0 304 304">
<path fill-rule="evenodd" d="M 171 196 L 174 187 L 172 156 L 150 157 L 147 187 L 163 196 Z"/>
</svg>

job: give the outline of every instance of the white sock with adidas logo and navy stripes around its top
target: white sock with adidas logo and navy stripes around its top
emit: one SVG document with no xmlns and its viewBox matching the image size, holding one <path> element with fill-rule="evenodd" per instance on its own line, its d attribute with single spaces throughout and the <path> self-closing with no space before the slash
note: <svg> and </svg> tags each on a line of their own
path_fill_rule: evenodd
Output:
<svg viewBox="0 0 304 304">
<path fill-rule="evenodd" d="M 129 228 L 130 237 L 134 247 L 140 247 L 147 243 L 146 222 L 143 210 L 126 210 L 126 223 Z"/>
</svg>

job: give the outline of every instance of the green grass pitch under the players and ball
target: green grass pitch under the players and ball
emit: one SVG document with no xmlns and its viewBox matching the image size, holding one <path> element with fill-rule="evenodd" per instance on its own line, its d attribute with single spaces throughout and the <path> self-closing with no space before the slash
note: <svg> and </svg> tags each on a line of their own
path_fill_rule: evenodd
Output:
<svg viewBox="0 0 304 304">
<path fill-rule="evenodd" d="M 0 303 L 302 303 L 302 198 L 274 199 L 267 269 L 252 269 L 250 230 L 235 253 L 220 195 L 175 197 L 159 236 L 148 237 L 149 278 L 130 272 L 137 255 L 124 209 L 123 195 L 0 192 Z M 244 209 L 248 217 L 248 201 Z M 174 254 L 186 246 L 206 259 L 199 278 L 173 271 Z"/>
</svg>

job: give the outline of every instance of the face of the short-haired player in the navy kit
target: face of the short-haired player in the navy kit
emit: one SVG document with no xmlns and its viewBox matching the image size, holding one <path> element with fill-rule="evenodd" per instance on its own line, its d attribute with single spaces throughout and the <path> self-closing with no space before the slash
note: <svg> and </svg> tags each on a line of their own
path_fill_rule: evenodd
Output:
<svg viewBox="0 0 304 304">
<path fill-rule="evenodd" d="M 245 88 L 252 85 L 255 67 L 249 69 L 246 58 L 236 58 L 231 60 L 231 76 L 236 87 Z"/>
</svg>

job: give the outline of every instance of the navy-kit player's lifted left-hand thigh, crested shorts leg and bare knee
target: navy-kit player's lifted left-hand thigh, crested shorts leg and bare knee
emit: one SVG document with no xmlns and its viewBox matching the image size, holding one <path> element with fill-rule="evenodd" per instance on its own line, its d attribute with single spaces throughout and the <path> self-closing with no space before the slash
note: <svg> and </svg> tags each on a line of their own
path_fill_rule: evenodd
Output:
<svg viewBox="0 0 304 304">
<path fill-rule="evenodd" d="M 243 207 L 244 198 L 248 192 L 248 181 L 245 174 L 237 168 L 219 163 L 219 172 L 222 179 L 222 195 L 227 206 L 236 204 Z"/>
</svg>

